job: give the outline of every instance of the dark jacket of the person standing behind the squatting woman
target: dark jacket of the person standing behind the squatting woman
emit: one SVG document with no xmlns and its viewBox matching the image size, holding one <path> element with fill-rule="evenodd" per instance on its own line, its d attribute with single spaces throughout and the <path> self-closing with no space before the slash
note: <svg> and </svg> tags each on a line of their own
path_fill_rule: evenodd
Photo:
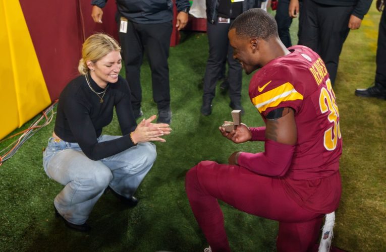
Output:
<svg viewBox="0 0 386 252">
<path fill-rule="evenodd" d="M 91 0 L 91 5 L 103 8 L 107 0 Z M 160 24 L 173 20 L 173 0 L 116 0 L 121 16 L 134 23 Z M 189 0 L 176 0 L 180 12 L 190 7 Z"/>
</svg>

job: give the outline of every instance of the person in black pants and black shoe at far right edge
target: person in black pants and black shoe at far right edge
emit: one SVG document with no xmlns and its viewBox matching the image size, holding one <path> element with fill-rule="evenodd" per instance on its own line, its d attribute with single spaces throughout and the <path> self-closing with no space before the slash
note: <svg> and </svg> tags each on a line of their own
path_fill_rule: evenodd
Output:
<svg viewBox="0 0 386 252">
<path fill-rule="evenodd" d="M 376 72 L 374 86 L 355 90 L 356 96 L 376 97 L 386 100 L 386 14 L 384 1 L 376 1 L 376 9 L 382 12 L 379 21 L 378 44 L 376 48 Z"/>
</svg>

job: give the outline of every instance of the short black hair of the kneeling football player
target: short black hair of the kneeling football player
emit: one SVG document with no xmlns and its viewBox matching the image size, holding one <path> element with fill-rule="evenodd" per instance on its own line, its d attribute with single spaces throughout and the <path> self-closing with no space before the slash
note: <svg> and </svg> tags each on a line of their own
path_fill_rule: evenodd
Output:
<svg viewBox="0 0 386 252">
<path fill-rule="evenodd" d="M 249 9 L 238 16 L 231 24 L 231 29 L 236 29 L 236 35 L 256 37 L 267 40 L 278 35 L 278 25 L 272 15 L 262 9 Z"/>
</svg>

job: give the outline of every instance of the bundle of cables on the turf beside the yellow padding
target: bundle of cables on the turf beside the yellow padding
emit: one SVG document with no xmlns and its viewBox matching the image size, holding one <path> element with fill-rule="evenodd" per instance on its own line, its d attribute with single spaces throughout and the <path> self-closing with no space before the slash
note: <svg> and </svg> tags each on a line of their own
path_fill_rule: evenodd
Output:
<svg viewBox="0 0 386 252">
<path fill-rule="evenodd" d="M 45 127 L 46 125 L 48 125 L 52 118 L 53 118 L 53 115 L 54 115 L 54 112 L 53 112 L 53 107 L 58 103 L 58 100 L 54 101 L 47 109 L 45 109 L 44 111 L 42 111 L 42 115 L 37 118 L 34 122 L 32 122 L 32 124 L 30 125 L 30 127 L 28 127 L 28 129 L 22 131 L 22 132 L 19 132 L 19 133 L 16 133 L 12 136 L 9 136 L 8 138 L 5 138 L 3 140 L 0 141 L 0 143 L 8 140 L 8 139 L 11 139 L 11 138 L 14 138 L 20 134 L 22 134 L 17 140 L 15 140 L 13 143 L 11 143 L 9 146 L 7 146 L 6 148 L 4 148 L 3 150 L 0 150 L 0 166 L 4 163 L 4 161 L 10 159 L 13 155 L 15 155 L 15 153 L 19 150 L 19 148 L 30 138 L 32 137 L 36 132 L 38 132 L 41 128 Z M 39 123 L 45 118 L 45 121 L 39 125 Z M 3 154 L 5 153 L 5 154 Z"/>
</svg>

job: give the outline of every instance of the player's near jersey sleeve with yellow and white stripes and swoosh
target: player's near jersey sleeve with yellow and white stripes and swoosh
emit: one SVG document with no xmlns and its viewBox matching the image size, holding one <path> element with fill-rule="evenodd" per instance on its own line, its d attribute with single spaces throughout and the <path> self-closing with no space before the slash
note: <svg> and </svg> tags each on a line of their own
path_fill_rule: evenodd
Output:
<svg viewBox="0 0 386 252">
<path fill-rule="evenodd" d="M 274 72 L 272 71 L 274 70 Z M 253 76 L 249 90 L 253 105 L 264 117 L 273 109 L 291 107 L 298 112 L 302 106 L 301 87 L 297 87 L 295 71 L 286 66 L 262 69 Z"/>
</svg>

